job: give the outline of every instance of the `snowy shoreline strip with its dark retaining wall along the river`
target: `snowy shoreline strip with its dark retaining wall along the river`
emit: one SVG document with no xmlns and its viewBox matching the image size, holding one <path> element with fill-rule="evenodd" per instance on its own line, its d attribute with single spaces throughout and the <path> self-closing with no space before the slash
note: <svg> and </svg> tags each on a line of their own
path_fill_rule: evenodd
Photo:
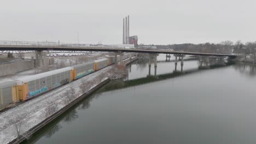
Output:
<svg viewBox="0 0 256 144">
<path fill-rule="evenodd" d="M 108 77 L 102 77 L 101 81 L 97 81 L 91 86 L 87 92 L 83 93 L 80 91 L 79 86 L 83 85 L 84 82 L 95 81 L 102 73 L 107 73 L 108 70 L 113 68 L 113 65 L 96 71 L 90 75 L 87 75 L 81 79 L 78 79 L 72 83 L 68 83 L 65 86 L 54 89 L 49 93 L 40 95 L 31 101 L 27 101 L 24 104 L 18 105 L 13 109 L 0 113 L 0 142 L 1 143 L 19 143 L 26 139 L 44 125 L 53 121 L 57 116 L 73 106 L 75 103 L 85 98 L 90 93 L 94 92 L 98 87 L 101 87 L 109 80 Z M 66 104 L 65 92 L 68 88 L 74 88 L 76 95 L 70 103 Z M 56 104 L 56 112 L 45 116 L 45 109 L 50 105 Z M 20 138 L 17 141 L 18 133 L 16 131 L 16 123 L 10 123 L 10 119 L 15 119 L 21 115 L 27 115 L 27 117 L 21 119 L 22 125 L 20 130 Z"/>
</svg>

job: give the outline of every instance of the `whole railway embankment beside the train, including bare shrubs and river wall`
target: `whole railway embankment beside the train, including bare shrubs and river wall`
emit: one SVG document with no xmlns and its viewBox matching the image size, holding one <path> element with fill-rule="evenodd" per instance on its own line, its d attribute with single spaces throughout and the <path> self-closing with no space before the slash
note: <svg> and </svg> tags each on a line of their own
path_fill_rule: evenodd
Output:
<svg viewBox="0 0 256 144">
<path fill-rule="evenodd" d="M 0 113 L 0 142 L 20 143 L 28 139 L 78 101 L 109 82 L 115 68 L 115 65 L 110 65 Z"/>
</svg>

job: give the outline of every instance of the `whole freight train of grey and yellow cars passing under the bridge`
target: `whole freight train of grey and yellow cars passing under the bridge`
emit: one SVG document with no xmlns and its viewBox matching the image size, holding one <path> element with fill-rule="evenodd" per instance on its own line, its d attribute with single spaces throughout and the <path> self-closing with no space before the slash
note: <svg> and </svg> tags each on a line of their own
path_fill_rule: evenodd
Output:
<svg viewBox="0 0 256 144">
<path fill-rule="evenodd" d="M 123 60 L 131 61 L 130 57 L 136 53 L 126 53 Z M 129 58 L 127 60 L 127 58 Z M 120 56 L 117 56 L 120 61 Z M 72 67 L 48 71 L 45 73 L 22 77 L 20 79 L 9 80 L 0 83 L 0 110 L 11 104 L 24 101 L 39 94 L 60 87 L 85 75 L 94 73 L 115 62 L 115 56 L 98 59 L 96 61 L 73 65 Z"/>
</svg>

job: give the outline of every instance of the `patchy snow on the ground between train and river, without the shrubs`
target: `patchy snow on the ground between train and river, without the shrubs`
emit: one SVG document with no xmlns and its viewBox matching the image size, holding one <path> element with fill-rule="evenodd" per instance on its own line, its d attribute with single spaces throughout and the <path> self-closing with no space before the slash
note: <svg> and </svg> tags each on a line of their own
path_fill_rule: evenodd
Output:
<svg viewBox="0 0 256 144">
<path fill-rule="evenodd" d="M 73 87 L 75 92 L 77 92 L 77 97 L 79 97 L 82 95 L 82 92 L 80 92 L 79 89 L 79 85 L 82 85 L 82 83 L 86 81 L 88 82 L 95 80 L 96 76 L 100 75 L 101 73 L 107 73 L 107 71 L 111 68 L 113 68 L 113 65 L 68 83 L 67 85 L 54 89 L 51 92 L 40 95 L 37 98 L 28 100 L 25 103 L 14 107 L 13 109 L 0 113 L 0 142 L 4 144 L 16 139 L 17 132 L 15 130 L 15 124 L 10 123 L 10 119 L 15 119 L 20 115 L 26 115 L 26 113 L 28 113 L 28 117 L 22 119 L 21 125 L 21 134 L 25 133 L 46 118 L 44 113 L 45 107 L 51 105 L 52 103 L 57 103 L 57 110 L 60 110 L 66 105 L 66 98 L 64 93 L 69 87 Z M 106 79 L 107 77 L 105 77 L 103 80 Z M 96 85 L 92 86 L 91 88 L 95 86 Z"/>
</svg>

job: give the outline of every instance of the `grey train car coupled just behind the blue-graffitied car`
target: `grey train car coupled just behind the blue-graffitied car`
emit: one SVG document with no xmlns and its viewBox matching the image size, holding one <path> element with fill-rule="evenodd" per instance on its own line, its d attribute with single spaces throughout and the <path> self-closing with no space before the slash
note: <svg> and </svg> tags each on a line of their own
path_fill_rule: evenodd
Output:
<svg viewBox="0 0 256 144">
<path fill-rule="evenodd" d="M 87 63 L 77 64 L 77 65 L 72 66 L 74 80 L 79 79 L 80 77 L 83 77 L 90 73 L 93 73 L 94 72 L 94 63 L 95 62 L 87 62 Z"/>
</svg>

